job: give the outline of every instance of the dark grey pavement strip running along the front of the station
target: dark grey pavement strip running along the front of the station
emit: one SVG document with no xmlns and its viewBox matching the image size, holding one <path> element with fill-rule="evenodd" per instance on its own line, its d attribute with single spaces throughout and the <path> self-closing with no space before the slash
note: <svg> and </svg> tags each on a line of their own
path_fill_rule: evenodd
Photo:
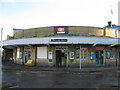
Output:
<svg viewBox="0 0 120 90">
<path fill-rule="evenodd" d="M 14 67 L 14 68 L 13 68 Z M 26 66 L 15 64 L 11 61 L 2 62 L 3 70 L 25 70 L 25 71 L 70 71 L 70 72 L 104 72 L 104 71 L 118 71 L 118 66 L 91 66 L 91 67 L 41 67 L 41 66 Z"/>
</svg>

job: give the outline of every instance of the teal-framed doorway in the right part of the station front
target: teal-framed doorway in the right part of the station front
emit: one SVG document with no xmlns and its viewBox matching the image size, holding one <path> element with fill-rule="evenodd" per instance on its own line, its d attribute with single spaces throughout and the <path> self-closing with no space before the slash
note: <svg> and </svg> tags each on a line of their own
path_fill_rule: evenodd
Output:
<svg viewBox="0 0 120 90">
<path fill-rule="evenodd" d="M 96 51 L 96 65 L 101 66 L 104 64 L 103 60 L 103 50 L 97 50 Z"/>
</svg>

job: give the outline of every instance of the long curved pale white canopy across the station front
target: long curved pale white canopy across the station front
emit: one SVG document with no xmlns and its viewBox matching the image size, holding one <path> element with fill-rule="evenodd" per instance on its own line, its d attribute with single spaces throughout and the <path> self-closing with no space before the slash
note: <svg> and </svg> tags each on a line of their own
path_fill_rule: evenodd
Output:
<svg viewBox="0 0 120 90">
<path fill-rule="evenodd" d="M 52 41 L 51 41 L 52 40 Z M 35 44 L 100 44 L 118 45 L 120 39 L 109 37 L 37 37 L 3 41 L 3 46 L 35 45 Z"/>
</svg>

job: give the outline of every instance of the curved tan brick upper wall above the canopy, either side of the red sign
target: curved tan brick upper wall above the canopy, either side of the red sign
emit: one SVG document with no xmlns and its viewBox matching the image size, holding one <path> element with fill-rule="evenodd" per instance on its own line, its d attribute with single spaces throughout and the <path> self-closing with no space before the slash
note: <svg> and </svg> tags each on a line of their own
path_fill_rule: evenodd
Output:
<svg viewBox="0 0 120 90">
<path fill-rule="evenodd" d="M 63 26 L 62 26 L 63 27 Z M 21 30 L 14 34 L 14 38 L 31 38 L 31 37 L 44 37 L 44 36 L 58 36 L 55 29 L 57 27 L 42 27 L 27 30 Z M 67 32 L 64 36 L 100 36 L 100 37 L 118 37 L 116 30 L 103 29 L 97 27 L 85 26 L 64 26 Z M 14 29 L 15 30 L 15 29 Z M 60 34 L 61 35 L 61 34 Z M 59 36 L 60 36 L 59 35 Z"/>
</svg>

